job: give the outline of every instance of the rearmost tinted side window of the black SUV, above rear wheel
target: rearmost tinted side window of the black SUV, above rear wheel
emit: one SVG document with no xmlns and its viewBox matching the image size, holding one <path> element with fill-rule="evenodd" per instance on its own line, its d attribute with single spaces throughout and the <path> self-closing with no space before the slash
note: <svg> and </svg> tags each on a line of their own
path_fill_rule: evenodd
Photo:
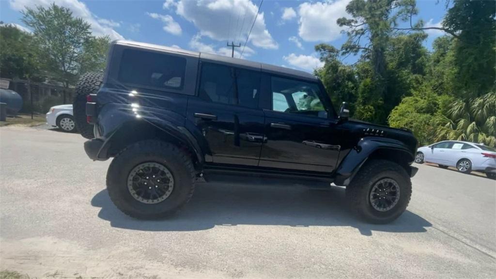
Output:
<svg viewBox="0 0 496 279">
<path fill-rule="evenodd" d="M 118 80 L 137 86 L 181 90 L 186 59 L 163 53 L 126 49 L 121 58 Z"/>
</svg>

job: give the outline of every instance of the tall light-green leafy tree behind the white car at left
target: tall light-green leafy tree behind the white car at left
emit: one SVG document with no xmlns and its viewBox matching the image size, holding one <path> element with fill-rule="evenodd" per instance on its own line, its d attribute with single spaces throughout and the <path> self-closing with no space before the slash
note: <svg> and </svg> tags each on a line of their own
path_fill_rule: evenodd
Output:
<svg viewBox="0 0 496 279">
<path fill-rule="evenodd" d="M 103 69 L 109 38 L 92 36 L 90 24 L 68 8 L 53 3 L 48 8 L 26 7 L 22 14 L 42 54 L 41 68 L 50 79 L 68 87 L 81 73 Z"/>
</svg>

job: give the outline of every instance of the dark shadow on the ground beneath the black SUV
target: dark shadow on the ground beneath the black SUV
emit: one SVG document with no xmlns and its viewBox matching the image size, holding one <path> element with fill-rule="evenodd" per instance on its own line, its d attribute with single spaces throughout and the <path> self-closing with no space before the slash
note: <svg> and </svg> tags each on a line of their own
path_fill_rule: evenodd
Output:
<svg viewBox="0 0 496 279">
<path fill-rule="evenodd" d="M 372 231 L 425 232 L 426 227 L 432 226 L 408 210 L 390 224 L 361 221 L 347 209 L 345 191 L 340 187 L 309 189 L 302 185 L 254 182 L 199 183 L 184 209 L 164 220 L 137 220 L 124 215 L 111 202 L 107 190 L 96 194 L 91 205 L 100 207 L 98 216 L 110 221 L 113 227 L 144 231 L 197 231 L 241 224 L 351 226 L 370 236 Z"/>
</svg>

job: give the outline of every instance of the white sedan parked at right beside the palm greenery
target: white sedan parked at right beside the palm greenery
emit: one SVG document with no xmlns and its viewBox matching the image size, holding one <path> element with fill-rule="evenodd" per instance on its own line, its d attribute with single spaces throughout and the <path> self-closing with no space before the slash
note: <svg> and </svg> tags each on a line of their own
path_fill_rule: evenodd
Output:
<svg viewBox="0 0 496 279">
<path fill-rule="evenodd" d="M 456 167 L 460 172 L 480 171 L 496 178 L 496 149 L 484 144 L 445 140 L 417 149 L 415 162 L 436 163 L 442 168 Z"/>
</svg>

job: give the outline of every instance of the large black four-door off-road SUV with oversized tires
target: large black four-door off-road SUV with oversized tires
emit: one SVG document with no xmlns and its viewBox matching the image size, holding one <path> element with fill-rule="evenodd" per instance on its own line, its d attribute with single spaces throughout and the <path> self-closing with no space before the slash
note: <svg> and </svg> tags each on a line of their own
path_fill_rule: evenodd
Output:
<svg viewBox="0 0 496 279">
<path fill-rule="evenodd" d="M 116 41 L 104 74 L 83 76 L 74 116 L 93 160 L 114 157 L 107 189 L 137 218 L 184 206 L 214 173 L 346 186 L 351 209 L 386 223 L 406 209 L 417 140 L 348 119 L 307 72 Z"/>
</svg>

